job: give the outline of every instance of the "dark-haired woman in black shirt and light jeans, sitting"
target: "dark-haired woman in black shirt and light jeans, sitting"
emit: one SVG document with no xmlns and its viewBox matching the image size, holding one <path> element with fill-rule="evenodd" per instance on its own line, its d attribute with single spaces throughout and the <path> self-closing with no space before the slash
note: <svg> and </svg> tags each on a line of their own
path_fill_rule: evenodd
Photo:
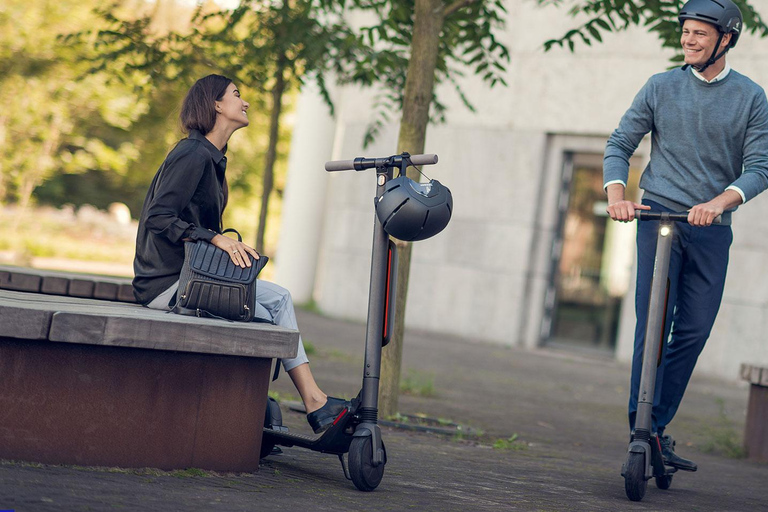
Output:
<svg viewBox="0 0 768 512">
<path fill-rule="evenodd" d="M 248 126 L 248 107 L 232 80 L 220 75 L 201 78 L 184 98 L 180 120 L 188 137 L 176 144 L 155 174 L 139 219 L 133 289 L 140 304 L 172 309 L 185 241 L 207 240 L 241 267 L 251 265 L 245 253 L 259 258 L 253 248 L 220 234 L 228 195 L 224 154 L 231 135 Z M 258 281 L 255 317 L 298 329 L 290 293 L 267 281 Z M 312 429 L 327 429 L 345 401 L 318 387 L 301 338 L 298 355 L 284 359 L 283 368 L 301 395 Z"/>
</svg>

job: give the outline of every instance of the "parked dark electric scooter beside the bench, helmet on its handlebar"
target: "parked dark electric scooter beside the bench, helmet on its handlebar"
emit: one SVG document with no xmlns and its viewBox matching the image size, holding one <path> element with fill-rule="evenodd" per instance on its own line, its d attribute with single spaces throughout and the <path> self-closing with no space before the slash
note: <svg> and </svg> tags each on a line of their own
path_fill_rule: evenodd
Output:
<svg viewBox="0 0 768 512">
<path fill-rule="evenodd" d="M 437 155 L 394 155 L 386 158 L 355 158 L 326 162 L 325 170 L 376 170 L 376 199 L 393 179 L 394 170 L 405 176 L 409 165 L 432 165 Z M 328 430 L 319 436 L 289 432 L 282 425 L 278 403 L 270 399 L 264 421 L 261 457 L 276 445 L 298 446 L 337 455 L 347 479 L 361 491 L 373 491 L 384 476 L 387 452 L 378 425 L 379 374 L 381 349 L 389 343 L 394 325 L 394 297 L 397 275 L 397 248 L 374 215 L 371 282 L 368 296 L 368 323 L 365 335 L 363 385 L 357 397 L 339 413 Z M 344 454 L 348 453 L 348 463 Z"/>
</svg>

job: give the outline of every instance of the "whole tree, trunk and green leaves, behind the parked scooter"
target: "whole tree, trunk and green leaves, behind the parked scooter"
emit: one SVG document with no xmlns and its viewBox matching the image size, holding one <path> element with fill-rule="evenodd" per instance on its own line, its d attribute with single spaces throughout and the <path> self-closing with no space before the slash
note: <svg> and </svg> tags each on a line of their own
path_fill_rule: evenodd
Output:
<svg viewBox="0 0 768 512">
<path fill-rule="evenodd" d="M 453 84 L 470 109 L 473 107 L 458 83 L 465 70 L 479 75 L 491 87 L 506 85 L 502 74 L 509 51 L 496 37 L 506 12 L 502 0 L 355 0 L 353 4 L 378 15 L 376 25 L 363 28 L 376 50 L 348 77 L 358 83 L 384 86 L 377 120 L 369 127 L 366 141 L 389 120 L 392 111 L 401 111 L 398 153 L 423 153 L 430 119 L 445 119 L 445 106 L 435 96 L 435 84 Z M 419 179 L 412 168 L 408 175 Z M 398 258 L 395 318 L 400 320 L 383 351 L 379 391 L 379 410 L 385 417 L 397 412 L 410 243 L 398 242 Z"/>
</svg>

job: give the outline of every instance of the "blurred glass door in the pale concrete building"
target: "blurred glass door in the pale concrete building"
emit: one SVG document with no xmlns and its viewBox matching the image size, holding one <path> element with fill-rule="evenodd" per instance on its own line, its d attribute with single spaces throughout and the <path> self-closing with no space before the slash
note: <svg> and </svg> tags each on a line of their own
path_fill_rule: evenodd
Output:
<svg viewBox="0 0 768 512">
<path fill-rule="evenodd" d="M 547 294 L 545 342 L 613 353 L 621 302 L 629 287 L 635 223 L 605 212 L 602 155 L 565 155 L 558 233 Z M 628 197 L 637 194 L 633 169 Z"/>
</svg>

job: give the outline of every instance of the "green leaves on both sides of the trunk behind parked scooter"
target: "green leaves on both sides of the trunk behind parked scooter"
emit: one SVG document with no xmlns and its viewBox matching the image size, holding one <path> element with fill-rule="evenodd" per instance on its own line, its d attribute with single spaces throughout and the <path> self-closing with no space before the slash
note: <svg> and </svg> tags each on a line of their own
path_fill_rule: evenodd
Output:
<svg viewBox="0 0 768 512">
<path fill-rule="evenodd" d="M 373 12 L 378 23 L 362 28 L 368 43 L 368 53 L 350 72 L 340 76 L 348 82 L 362 85 L 381 85 L 374 119 L 368 126 L 364 144 L 367 146 L 391 120 L 392 114 L 402 110 L 405 79 L 410 59 L 416 0 L 352 0 L 357 9 Z M 445 16 L 440 34 L 435 83 L 450 83 L 464 105 L 474 107 L 461 90 L 459 78 L 471 70 L 490 87 L 506 85 L 504 72 L 509 62 L 509 50 L 496 38 L 496 31 L 504 27 L 506 9 L 503 0 L 446 1 Z M 434 89 L 433 89 L 434 91 Z M 430 120 L 446 120 L 446 106 L 431 91 Z"/>
</svg>

